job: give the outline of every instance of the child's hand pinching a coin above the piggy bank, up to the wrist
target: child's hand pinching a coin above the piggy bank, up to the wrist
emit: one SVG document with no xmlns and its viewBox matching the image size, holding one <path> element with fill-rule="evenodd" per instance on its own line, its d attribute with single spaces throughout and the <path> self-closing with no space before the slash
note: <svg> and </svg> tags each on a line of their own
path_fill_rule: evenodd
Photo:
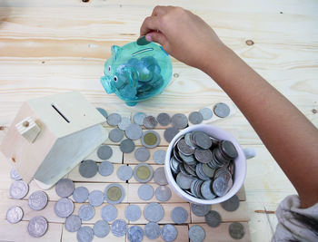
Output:
<svg viewBox="0 0 318 242">
<path fill-rule="evenodd" d="M 188 65 L 204 69 L 209 57 L 224 44 L 199 16 L 174 6 L 156 6 L 144 19 L 140 35 L 161 44 L 167 53 Z"/>
</svg>

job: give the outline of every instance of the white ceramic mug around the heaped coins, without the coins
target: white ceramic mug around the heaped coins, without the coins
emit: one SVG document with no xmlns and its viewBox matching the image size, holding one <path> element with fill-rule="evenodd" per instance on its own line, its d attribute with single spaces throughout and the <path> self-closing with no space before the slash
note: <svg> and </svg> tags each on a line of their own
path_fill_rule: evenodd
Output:
<svg viewBox="0 0 318 242">
<path fill-rule="evenodd" d="M 174 149 L 174 143 L 178 140 L 181 136 L 183 136 L 187 132 L 191 131 L 204 131 L 206 134 L 218 139 L 218 140 L 230 140 L 233 142 L 238 156 L 234 160 L 234 180 L 233 180 L 233 187 L 221 198 L 214 198 L 214 199 L 200 199 L 194 198 L 193 196 L 184 192 L 175 182 L 172 170 L 170 168 L 170 159 L 172 155 L 172 150 Z M 251 152 L 251 150 L 250 150 Z M 252 158 L 254 155 L 250 156 Z M 196 204 L 216 204 L 227 200 L 228 198 L 232 198 L 234 194 L 241 189 L 245 176 L 246 176 L 246 158 L 244 155 L 244 150 L 240 146 L 239 142 L 227 131 L 221 130 L 213 125 L 206 125 L 206 124 L 198 124 L 191 127 L 186 128 L 183 131 L 180 131 L 177 135 L 175 135 L 174 139 L 170 142 L 168 150 L 165 155 L 164 161 L 164 172 L 166 179 L 170 185 L 170 187 L 174 190 L 174 192 L 179 195 L 184 200 L 189 201 L 191 203 Z"/>
</svg>

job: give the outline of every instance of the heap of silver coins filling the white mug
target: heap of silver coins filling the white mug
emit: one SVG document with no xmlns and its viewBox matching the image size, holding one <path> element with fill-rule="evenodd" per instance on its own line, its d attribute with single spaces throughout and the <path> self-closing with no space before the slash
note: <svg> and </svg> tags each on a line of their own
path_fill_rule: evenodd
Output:
<svg viewBox="0 0 318 242">
<path fill-rule="evenodd" d="M 174 143 L 170 168 L 184 192 L 194 198 L 213 199 L 232 188 L 237 155 L 231 141 L 192 131 Z"/>
</svg>

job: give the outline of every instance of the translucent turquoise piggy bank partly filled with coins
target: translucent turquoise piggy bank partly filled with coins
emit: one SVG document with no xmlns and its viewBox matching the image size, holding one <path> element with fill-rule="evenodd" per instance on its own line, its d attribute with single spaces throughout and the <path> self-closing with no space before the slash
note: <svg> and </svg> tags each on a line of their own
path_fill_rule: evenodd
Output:
<svg viewBox="0 0 318 242">
<path fill-rule="evenodd" d="M 172 73 L 170 57 L 160 45 L 131 42 L 112 46 L 101 82 L 108 94 L 115 93 L 127 105 L 134 106 L 163 92 Z"/>
</svg>

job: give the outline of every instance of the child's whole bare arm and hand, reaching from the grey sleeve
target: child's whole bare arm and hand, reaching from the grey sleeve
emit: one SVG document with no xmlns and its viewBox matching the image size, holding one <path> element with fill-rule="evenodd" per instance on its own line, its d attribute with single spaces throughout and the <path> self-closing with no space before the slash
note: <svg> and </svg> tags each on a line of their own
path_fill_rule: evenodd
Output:
<svg viewBox="0 0 318 242">
<path fill-rule="evenodd" d="M 158 32 L 157 32 L 158 31 Z M 280 92 L 226 47 L 197 15 L 157 6 L 141 35 L 209 74 L 253 126 L 298 191 L 302 208 L 318 201 L 318 130 Z"/>
</svg>

